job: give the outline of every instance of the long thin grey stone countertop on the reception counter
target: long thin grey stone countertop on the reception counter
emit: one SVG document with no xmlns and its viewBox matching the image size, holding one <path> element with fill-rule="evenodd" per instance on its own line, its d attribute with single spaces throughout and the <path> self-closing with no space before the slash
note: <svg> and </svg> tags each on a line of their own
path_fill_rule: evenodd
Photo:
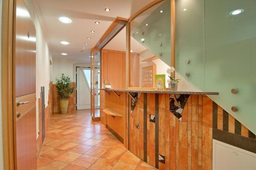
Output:
<svg viewBox="0 0 256 170">
<path fill-rule="evenodd" d="M 105 91 L 116 91 L 116 92 L 136 92 L 136 93 L 160 93 L 160 94 L 205 94 L 205 95 L 219 95 L 219 92 L 212 91 L 171 91 L 171 90 L 155 90 L 155 89 L 143 89 L 143 88 L 131 88 L 131 89 L 105 89 Z"/>
</svg>

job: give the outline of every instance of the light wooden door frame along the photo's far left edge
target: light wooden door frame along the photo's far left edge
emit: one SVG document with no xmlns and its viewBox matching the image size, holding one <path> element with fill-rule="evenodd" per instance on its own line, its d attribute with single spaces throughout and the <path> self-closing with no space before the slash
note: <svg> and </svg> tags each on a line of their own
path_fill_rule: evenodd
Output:
<svg viewBox="0 0 256 170">
<path fill-rule="evenodd" d="M 15 169 L 14 131 L 13 131 L 13 49 L 15 48 L 13 25 L 16 0 L 3 0 L 2 4 L 2 122 L 4 168 Z M 3 100 L 4 99 L 4 100 Z"/>
</svg>

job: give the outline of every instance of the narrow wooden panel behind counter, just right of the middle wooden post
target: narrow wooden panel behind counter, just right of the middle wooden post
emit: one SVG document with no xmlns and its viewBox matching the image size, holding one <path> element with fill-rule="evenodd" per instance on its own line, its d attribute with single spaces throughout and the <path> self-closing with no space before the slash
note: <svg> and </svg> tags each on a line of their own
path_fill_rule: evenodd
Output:
<svg viewBox="0 0 256 170">
<path fill-rule="evenodd" d="M 130 87 L 139 87 L 140 55 L 131 53 L 130 56 Z"/>
</svg>

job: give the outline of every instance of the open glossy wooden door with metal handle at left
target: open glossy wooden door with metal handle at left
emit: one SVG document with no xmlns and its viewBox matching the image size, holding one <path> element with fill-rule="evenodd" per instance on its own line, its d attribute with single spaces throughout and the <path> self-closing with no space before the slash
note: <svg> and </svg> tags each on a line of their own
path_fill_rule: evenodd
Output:
<svg viewBox="0 0 256 170">
<path fill-rule="evenodd" d="M 36 169 L 36 35 L 23 0 L 14 17 L 14 149 L 15 169 Z"/>
</svg>

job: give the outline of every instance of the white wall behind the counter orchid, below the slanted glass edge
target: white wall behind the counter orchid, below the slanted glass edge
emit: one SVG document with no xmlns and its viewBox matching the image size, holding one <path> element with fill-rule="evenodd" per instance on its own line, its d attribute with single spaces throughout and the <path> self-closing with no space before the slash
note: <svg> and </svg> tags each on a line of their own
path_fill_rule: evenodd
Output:
<svg viewBox="0 0 256 170">
<path fill-rule="evenodd" d="M 139 75 L 140 75 L 140 87 L 142 85 L 142 83 L 141 83 L 142 67 L 146 67 L 146 66 L 149 66 L 149 65 L 152 65 L 152 64 L 156 64 L 156 74 L 157 75 L 165 74 L 165 79 L 166 79 L 165 86 L 168 87 L 168 82 L 167 82 L 168 74 L 166 73 L 166 70 L 167 70 L 167 68 L 169 68 L 169 66 L 166 63 L 164 63 L 160 59 L 153 60 L 151 62 L 142 62 L 142 60 L 144 60 L 146 58 L 153 57 L 153 56 L 155 56 L 155 55 L 153 53 L 151 53 L 151 51 L 149 51 L 149 50 L 145 50 L 145 51 L 140 53 L 140 72 L 139 72 Z M 176 72 L 176 79 L 181 79 L 179 81 L 179 84 L 178 84 L 178 90 L 181 90 L 181 91 L 182 90 L 186 90 L 186 91 L 200 91 L 195 86 L 193 86 L 191 83 L 189 83 L 187 80 L 185 80 L 178 72 Z"/>
</svg>

